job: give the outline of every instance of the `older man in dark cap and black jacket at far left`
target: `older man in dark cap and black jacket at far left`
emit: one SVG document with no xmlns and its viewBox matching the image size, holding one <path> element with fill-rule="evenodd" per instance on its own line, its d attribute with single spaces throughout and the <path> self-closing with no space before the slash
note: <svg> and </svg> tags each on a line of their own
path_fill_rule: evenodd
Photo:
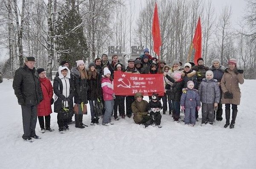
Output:
<svg viewBox="0 0 256 169">
<path fill-rule="evenodd" d="M 15 71 L 12 87 L 21 105 L 23 131 L 22 138 L 32 142 L 31 138 L 39 139 L 35 134 L 37 106 L 43 100 L 38 72 L 35 70 L 35 58 L 25 58 L 25 64 Z"/>
</svg>

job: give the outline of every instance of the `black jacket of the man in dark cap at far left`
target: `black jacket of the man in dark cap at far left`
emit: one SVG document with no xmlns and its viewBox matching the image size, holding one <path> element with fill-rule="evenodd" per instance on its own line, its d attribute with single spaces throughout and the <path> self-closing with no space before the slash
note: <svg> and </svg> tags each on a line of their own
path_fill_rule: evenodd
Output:
<svg viewBox="0 0 256 169">
<path fill-rule="evenodd" d="M 20 105 L 37 105 L 43 100 L 38 72 L 26 65 L 15 71 L 12 87 Z"/>
</svg>

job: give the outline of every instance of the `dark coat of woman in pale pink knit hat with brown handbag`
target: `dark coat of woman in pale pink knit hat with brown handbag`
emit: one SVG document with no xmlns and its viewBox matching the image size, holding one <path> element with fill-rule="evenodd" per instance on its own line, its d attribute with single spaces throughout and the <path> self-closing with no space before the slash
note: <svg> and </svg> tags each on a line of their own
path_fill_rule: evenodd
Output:
<svg viewBox="0 0 256 169">
<path fill-rule="evenodd" d="M 84 104 L 87 104 L 88 103 L 87 91 L 89 90 L 88 79 L 81 79 L 80 72 L 79 70 L 77 70 L 76 67 L 71 69 L 71 73 L 75 79 L 74 102 L 76 104 L 81 104 L 81 102 L 84 102 Z"/>
</svg>

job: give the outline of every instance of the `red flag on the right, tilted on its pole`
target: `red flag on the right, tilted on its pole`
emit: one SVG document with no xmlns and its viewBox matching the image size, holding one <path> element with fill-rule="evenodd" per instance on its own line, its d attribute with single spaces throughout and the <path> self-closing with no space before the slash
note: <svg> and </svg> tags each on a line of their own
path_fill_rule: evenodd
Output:
<svg viewBox="0 0 256 169">
<path fill-rule="evenodd" d="M 201 57 L 202 54 L 202 29 L 201 29 L 201 20 L 198 19 L 198 24 L 195 28 L 195 35 L 193 39 L 193 48 L 195 49 L 194 63 L 197 64 L 197 59 Z"/>
</svg>

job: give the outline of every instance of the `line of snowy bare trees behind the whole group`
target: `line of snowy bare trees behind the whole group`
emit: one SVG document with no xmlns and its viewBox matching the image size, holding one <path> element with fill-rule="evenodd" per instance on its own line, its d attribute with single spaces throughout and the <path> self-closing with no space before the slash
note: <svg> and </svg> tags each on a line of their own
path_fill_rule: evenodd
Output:
<svg viewBox="0 0 256 169">
<path fill-rule="evenodd" d="M 167 64 L 174 59 L 186 62 L 200 16 L 206 65 L 218 58 L 225 66 L 230 58 L 236 58 L 245 78 L 256 79 L 256 0 L 246 0 L 239 28 L 232 25 L 231 6 L 217 11 L 213 2 L 157 1 L 161 59 Z M 128 53 L 131 45 L 144 45 L 153 54 L 154 3 L 145 0 L 135 16 L 134 4 L 125 0 L 1 0 L 0 45 L 9 55 L 1 63 L 3 76 L 12 78 L 26 56 L 34 56 L 36 67 L 46 68 L 51 78 L 62 60 L 71 65 L 78 59 L 92 62 L 107 53 L 108 45 L 120 45 Z"/>
</svg>

